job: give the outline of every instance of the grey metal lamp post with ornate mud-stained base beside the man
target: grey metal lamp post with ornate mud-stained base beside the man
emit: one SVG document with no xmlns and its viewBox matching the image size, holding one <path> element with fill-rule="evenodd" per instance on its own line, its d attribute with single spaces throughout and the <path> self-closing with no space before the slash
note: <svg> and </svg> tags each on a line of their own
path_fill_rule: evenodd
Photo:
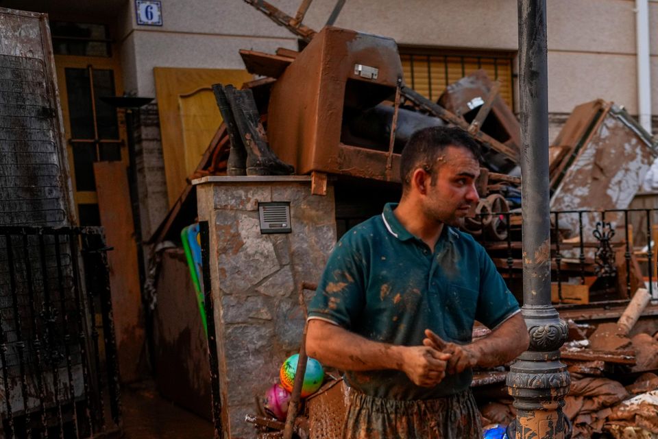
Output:
<svg viewBox="0 0 658 439">
<path fill-rule="evenodd" d="M 519 0 L 523 316 L 530 347 L 510 368 L 516 438 L 565 438 L 569 374 L 559 361 L 567 326 L 550 303 L 546 0 Z"/>
</svg>

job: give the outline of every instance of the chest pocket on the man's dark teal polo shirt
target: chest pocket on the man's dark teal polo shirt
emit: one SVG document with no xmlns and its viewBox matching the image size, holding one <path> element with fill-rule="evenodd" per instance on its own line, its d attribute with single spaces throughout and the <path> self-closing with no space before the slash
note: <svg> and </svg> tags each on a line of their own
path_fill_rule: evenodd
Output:
<svg viewBox="0 0 658 439">
<path fill-rule="evenodd" d="M 450 342 L 469 343 L 475 322 L 478 292 L 454 283 L 448 283 L 445 291 L 443 329 L 452 338 Z"/>
</svg>

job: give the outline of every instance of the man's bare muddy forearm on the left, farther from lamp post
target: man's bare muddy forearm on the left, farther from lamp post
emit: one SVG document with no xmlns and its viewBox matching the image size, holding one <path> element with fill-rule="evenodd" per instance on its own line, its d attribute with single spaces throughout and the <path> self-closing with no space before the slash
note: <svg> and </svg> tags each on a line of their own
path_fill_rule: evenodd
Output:
<svg viewBox="0 0 658 439">
<path fill-rule="evenodd" d="M 400 346 L 367 340 L 322 320 L 310 320 L 306 353 L 322 364 L 341 370 L 402 368 Z"/>
</svg>

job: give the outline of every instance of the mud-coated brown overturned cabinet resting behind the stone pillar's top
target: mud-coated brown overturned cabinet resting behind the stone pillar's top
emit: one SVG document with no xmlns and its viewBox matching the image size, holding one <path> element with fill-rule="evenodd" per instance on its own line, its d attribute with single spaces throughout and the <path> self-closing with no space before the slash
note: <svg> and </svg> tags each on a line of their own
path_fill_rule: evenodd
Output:
<svg viewBox="0 0 658 439">
<path fill-rule="evenodd" d="M 350 121 L 395 99 L 402 83 L 391 38 L 325 27 L 271 89 L 267 136 L 298 174 L 321 171 L 398 181 L 399 150 L 358 135 Z M 392 114 L 392 113 L 391 113 Z"/>
</svg>

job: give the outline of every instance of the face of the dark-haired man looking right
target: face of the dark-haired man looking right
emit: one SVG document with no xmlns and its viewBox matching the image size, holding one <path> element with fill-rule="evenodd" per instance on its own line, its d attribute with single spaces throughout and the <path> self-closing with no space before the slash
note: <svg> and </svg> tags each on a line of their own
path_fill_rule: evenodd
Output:
<svg viewBox="0 0 658 439">
<path fill-rule="evenodd" d="M 464 147 L 449 146 L 432 167 L 432 178 L 423 202 L 426 217 L 435 222 L 459 225 L 480 197 L 475 180 L 480 164 Z"/>
</svg>

